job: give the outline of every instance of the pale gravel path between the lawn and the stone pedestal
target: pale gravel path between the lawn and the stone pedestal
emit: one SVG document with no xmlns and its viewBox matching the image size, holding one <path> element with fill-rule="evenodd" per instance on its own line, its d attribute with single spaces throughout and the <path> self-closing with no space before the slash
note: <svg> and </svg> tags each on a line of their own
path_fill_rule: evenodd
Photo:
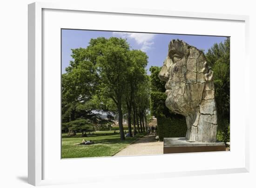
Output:
<svg viewBox="0 0 256 188">
<path fill-rule="evenodd" d="M 155 141 L 154 135 L 139 138 L 133 144 L 122 149 L 115 156 L 163 154 L 163 142 Z"/>
</svg>

